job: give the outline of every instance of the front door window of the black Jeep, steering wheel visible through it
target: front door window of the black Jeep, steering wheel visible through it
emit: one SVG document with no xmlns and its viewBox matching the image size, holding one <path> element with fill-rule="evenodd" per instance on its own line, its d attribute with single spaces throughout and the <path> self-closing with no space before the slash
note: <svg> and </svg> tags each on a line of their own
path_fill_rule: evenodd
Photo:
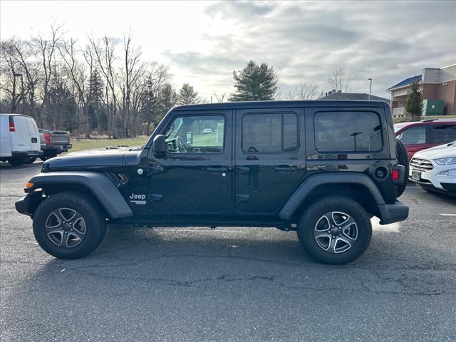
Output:
<svg viewBox="0 0 456 342">
<path fill-rule="evenodd" d="M 166 130 L 167 152 L 222 152 L 224 127 L 225 118 L 222 115 L 179 116 Z"/>
</svg>

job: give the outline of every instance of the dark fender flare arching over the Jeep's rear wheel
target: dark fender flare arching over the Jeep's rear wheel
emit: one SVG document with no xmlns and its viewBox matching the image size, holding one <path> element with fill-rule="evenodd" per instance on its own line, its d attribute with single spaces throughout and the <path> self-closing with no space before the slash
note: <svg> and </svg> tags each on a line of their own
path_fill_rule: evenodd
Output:
<svg viewBox="0 0 456 342">
<path fill-rule="evenodd" d="M 289 220 L 299 208 L 302 202 L 306 197 L 314 190 L 318 185 L 331 184 L 331 183 L 351 183 L 358 184 L 366 187 L 366 189 L 371 192 L 375 203 L 381 208 L 385 205 L 385 200 L 380 194 L 377 185 L 363 173 L 356 172 L 328 172 L 328 173 L 318 173 L 316 175 L 311 175 L 304 182 L 299 185 L 299 187 L 294 190 L 293 194 L 286 201 L 284 206 L 279 212 L 279 217 L 281 219 Z"/>
</svg>

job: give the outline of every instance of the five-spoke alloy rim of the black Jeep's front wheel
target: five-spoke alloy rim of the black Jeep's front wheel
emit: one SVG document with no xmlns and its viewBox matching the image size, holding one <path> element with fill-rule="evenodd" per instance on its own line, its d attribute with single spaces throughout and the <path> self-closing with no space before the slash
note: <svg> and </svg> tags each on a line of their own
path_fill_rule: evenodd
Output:
<svg viewBox="0 0 456 342">
<path fill-rule="evenodd" d="M 86 221 L 75 209 L 58 208 L 48 214 L 45 224 L 46 236 L 62 248 L 73 248 L 86 237 Z"/>
</svg>

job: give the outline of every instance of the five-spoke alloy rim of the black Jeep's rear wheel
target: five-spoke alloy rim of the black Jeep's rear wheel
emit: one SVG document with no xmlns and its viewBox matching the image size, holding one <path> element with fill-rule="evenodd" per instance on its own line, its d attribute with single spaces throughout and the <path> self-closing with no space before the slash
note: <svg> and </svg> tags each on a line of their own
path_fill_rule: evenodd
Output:
<svg viewBox="0 0 456 342">
<path fill-rule="evenodd" d="M 358 224 L 345 212 L 326 212 L 315 224 L 314 239 L 325 252 L 346 252 L 358 239 Z"/>
</svg>

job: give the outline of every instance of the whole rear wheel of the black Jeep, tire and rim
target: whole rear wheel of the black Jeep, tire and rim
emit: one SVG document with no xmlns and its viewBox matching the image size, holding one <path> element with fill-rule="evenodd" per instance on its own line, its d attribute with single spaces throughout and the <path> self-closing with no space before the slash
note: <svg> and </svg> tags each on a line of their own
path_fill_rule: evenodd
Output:
<svg viewBox="0 0 456 342">
<path fill-rule="evenodd" d="M 369 214 L 345 196 L 319 199 L 306 210 L 297 230 L 304 251 L 323 264 L 347 264 L 358 259 L 372 237 Z"/>
</svg>

